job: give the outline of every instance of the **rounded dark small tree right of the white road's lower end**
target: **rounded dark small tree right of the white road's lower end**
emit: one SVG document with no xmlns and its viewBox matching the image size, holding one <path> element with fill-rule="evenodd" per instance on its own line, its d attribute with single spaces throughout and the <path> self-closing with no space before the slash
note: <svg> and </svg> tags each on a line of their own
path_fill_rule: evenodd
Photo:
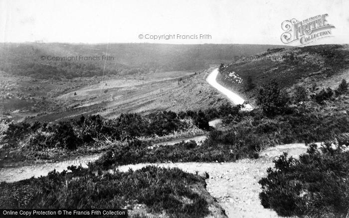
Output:
<svg viewBox="0 0 349 218">
<path fill-rule="evenodd" d="M 271 80 L 259 89 L 257 95 L 257 105 L 259 105 L 266 114 L 274 115 L 283 112 L 288 106 L 289 97 L 286 92 L 281 91 L 279 84 Z"/>
</svg>

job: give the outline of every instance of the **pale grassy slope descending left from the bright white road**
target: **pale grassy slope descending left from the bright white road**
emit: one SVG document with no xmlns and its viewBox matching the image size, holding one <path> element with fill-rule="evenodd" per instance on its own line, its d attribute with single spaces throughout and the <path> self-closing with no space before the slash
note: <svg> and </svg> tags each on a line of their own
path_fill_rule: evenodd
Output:
<svg viewBox="0 0 349 218">
<path fill-rule="evenodd" d="M 28 120 L 51 121 L 94 113 L 114 118 L 126 112 L 145 114 L 162 110 L 179 112 L 218 108 L 228 101 L 204 80 L 209 72 L 169 72 L 173 78 L 163 74 L 162 78 L 108 80 L 85 86 L 58 96 L 57 101 L 64 105 L 55 107 L 56 111 L 43 107 L 39 116 Z M 74 109 L 66 110 L 65 107 Z"/>
</svg>

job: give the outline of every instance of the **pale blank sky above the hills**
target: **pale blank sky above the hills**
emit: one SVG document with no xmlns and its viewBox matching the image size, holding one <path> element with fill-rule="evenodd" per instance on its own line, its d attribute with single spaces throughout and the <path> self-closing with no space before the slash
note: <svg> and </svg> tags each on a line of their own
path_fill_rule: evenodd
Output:
<svg viewBox="0 0 349 218">
<path fill-rule="evenodd" d="M 324 13 L 334 37 L 317 43 L 349 43 L 349 0 L 0 0 L 0 41 L 283 44 L 284 20 Z"/>
</svg>

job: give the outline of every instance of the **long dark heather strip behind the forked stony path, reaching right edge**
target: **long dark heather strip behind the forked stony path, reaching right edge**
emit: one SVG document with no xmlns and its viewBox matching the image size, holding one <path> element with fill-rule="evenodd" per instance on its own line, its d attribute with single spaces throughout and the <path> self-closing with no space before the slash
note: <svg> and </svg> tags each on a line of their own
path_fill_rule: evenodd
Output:
<svg viewBox="0 0 349 218">
<path fill-rule="evenodd" d="M 95 164 L 110 169 L 136 163 L 234 161 L 244 157 L 256 158 L 258 151 L 267 146 L 321 141 L 349 132 L 349 117 L 342 113 L 290 114 L 273 119 L 255 111 L 248 115 L 251 116 L 239 113 L 236 116 L 239 121 L 232 121 L 225 131 L 210 131 L 201 145 L 191 141 L 153 147 L 148 141 L 132 140 L 115 144 Z"/>
</svg>

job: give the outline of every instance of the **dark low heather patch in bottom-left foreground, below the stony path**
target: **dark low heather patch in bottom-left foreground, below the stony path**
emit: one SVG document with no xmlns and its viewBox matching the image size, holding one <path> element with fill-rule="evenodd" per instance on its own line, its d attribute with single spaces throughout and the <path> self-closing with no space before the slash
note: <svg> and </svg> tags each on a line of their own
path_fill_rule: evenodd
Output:
<svg viewBox="0 0 349 218">
<path fill-rule="evenodd" d="M 148 166 L 137 171 L 96 175 L 70 167 L 71 173 L 0 184 L 0 208 L 7 209 L 132 209 L 146 205 L 151 213 L 174 218 L 204 217 L 208 203 L 197 192 L 206 188 L 203 177 L 178 168 Z M 195 191 L 196 189 L 196 191 Z"/>
</svg>

